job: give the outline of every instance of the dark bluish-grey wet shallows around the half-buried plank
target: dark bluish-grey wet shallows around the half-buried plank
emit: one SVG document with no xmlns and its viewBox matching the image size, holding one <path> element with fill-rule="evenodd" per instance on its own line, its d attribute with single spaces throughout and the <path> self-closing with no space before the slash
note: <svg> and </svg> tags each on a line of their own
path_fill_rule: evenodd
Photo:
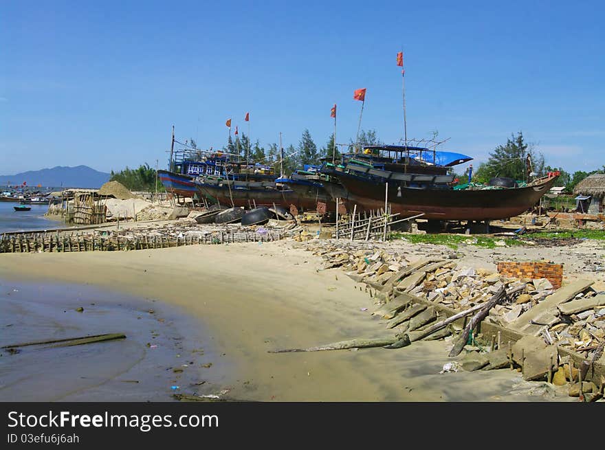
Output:
<svg viewBox="0 0 605 450">
<path fill-rule="evenodd" d="M 126 335 L 81 346 L 18 346 L 17 353 L 0 348 L 0 401 L 172 401 L 201 380 L 199 393 L 217 390 L 217 375 L 228 371 L 202 369 L 217 358 L 197 321 L 155 300 L 91 286 L 0 280 L 0 330 L 0 347 Z"/>
</svg>

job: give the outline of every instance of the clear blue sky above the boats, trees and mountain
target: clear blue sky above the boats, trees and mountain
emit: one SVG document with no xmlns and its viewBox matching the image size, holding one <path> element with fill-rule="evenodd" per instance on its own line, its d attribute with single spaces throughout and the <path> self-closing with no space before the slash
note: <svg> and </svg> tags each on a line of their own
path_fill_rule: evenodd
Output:
<svg viewBox="0 0 605 450">
<path fill-rule="evenodd" d="M 488 3 L 492 3 L 489 6 Z M 475 158 L 522 131 L 551 166 L 605 164 L 602 1 L 12 1 L 0 13 L 0 174 L 165 168 L 177 139 L 322 146 L 362 128 Z"/>
</svg>

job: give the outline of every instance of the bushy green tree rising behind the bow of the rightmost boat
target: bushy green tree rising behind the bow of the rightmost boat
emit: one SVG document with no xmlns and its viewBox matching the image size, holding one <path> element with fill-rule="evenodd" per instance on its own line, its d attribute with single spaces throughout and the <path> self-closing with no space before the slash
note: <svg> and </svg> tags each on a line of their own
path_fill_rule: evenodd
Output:
<svg viewBox="0 0 605 450">
<path fill-rule="evenodd" d="M 492 177 L 507 177 L 527 181 L 526 159 L 528 156 L 533 172 L 538 177 L 542 176 L 544 174 L 544 156 L 533 148 L 533 144 L 525 142 L 523 134 L 519 131 L 516 136 L 511 135 L 505 145 L 499 145 L 489 153 L 489 159 L 479 165 L 473 180 L 486 183 Z"/>
</svg>

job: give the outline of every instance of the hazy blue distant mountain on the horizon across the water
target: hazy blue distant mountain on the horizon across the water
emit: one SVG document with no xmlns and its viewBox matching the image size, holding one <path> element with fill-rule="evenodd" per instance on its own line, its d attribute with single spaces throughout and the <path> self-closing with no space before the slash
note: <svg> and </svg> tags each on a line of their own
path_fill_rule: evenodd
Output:
<svg viewBox="0 0 605 450">
<path fill-rule="evenodd" d="M 0 185 L 20 185 L 25 181 L 32 187 L 41 184 L 43 187 L 100 188 L 109 181 L 110 176 L 109 173 L 99 172 L 88 166 L 56 166 L 52 169 L 30 170 L 15 175 L 0 175 Z"/>
</svg>

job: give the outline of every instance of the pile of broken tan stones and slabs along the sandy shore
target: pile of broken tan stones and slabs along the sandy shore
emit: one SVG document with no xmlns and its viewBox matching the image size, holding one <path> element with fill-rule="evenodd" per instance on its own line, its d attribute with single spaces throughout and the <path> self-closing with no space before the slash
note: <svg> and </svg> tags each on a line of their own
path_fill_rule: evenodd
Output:
<svg viewBox="0 0 605 450">
<path fill-rule="evenodd" d="M 487 322 L 538 336 L 545 344 L 562 346 L 584 359 L 605 364 L 605 293 L 592 289 L 592 282 L 580 281 L 577 286 L 571 283 L 555 290 L 546 278 L 511 278 L 486 269 L 459 267 L 454 253 L 412 258 L 394 249 L 377 249 L 372 243 L 328 242 L 310 240 L 305 246 L 325 260 L 323 269 L 340 267 L 356 282 L 366 284 L 370 295 L 391 311 L 381 313 L 383 318 L 393 319 L 388 328 L 399 326 L 402 317 L 412 319 L 414 314 L 426 310 L 427 304 L 452 312 L 465 311 L 487 302 L 504 287 L 517 292 L 496 304 L 489 311 Z M 397 305 L 389 308 L 391 301 L 399 297 L 412 298 L 424 307 L 411 311 L 408 306 L 399 311 Z M 538 305 L 541 306 L 535 313 L 529 313 Z M 431 314 L 423 326 L 437 319 L 436 314 Z"/>
</svg>

